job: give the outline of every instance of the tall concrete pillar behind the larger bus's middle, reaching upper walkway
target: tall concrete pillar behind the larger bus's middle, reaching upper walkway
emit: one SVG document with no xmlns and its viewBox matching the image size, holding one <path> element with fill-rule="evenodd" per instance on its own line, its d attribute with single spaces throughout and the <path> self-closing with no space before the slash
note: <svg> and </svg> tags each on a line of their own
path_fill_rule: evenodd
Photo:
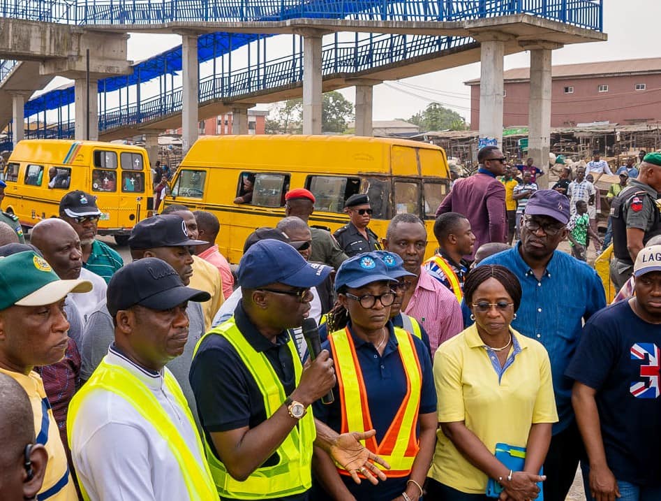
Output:
<svg viewBox="0 0 661 501">
<path fill-rule="evenodd" d="M 321 32 L 303 34 L 303 133 L 321 133 Z"/>
</svg>

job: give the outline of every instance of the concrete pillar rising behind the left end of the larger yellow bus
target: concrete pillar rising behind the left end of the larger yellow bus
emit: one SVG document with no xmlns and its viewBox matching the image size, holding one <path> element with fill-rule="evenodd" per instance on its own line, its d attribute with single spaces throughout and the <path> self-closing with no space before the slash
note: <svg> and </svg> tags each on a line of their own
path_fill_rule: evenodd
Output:
<svg viewBox="0 0 661 501">
<path fill-rule="evenodd" d="M 182 149 L 186 153 L 198 139 L 198 36 L 181 35 L 183 92 L 181 101 Z"/>
</svg>

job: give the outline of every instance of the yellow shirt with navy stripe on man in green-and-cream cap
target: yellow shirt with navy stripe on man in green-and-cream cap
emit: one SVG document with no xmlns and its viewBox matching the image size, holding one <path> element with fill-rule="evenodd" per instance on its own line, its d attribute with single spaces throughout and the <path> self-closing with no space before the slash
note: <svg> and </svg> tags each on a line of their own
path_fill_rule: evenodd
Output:
<svg viewBox="0 0 661 501">
<path fill-rule="evenodd" d="M 62 445 L 53 411 L 48 404 L 41 377 L 34 371 L 30 372 L 28 376 L 1 368 L 0 372 L 13 377 L 27 393 L 32 405 L 32 414 L 34 414 L 36 442 L 43 444 L 48 453 L 46 474 L 37 498 L 40 501 L 77 501 L 78 496 L 66 463 L 64 445 Z"/>
</svg>

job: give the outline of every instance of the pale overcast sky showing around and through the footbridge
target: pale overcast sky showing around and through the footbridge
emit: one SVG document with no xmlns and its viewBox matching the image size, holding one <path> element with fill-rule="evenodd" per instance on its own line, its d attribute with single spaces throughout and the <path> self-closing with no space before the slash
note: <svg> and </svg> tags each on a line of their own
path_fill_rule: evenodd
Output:
<svg viewBox="0 0 661 501">
<path fill-rule="evenodd" d="M 661 0 L 604 0 L 604 32 L 608 41 L 567 45 L 554 50 L 553 64 L 573 64 L 591 61 L 613 61 L 660 57 L 658 42 L 658 20 L 661 17 Z M 128 59 L 139 61 L 168 50 L 181 43 L 177 35 L 131 34 L 128 40 Z M 269 59 L 285 55 L 291 49 L 291 38 L 269 41 Z M 255 52 L 253 52 L 254 54 Z M 233 67 L 242 68 L 246 52 L 233 57 Z M 528 52 L 505 57 L 505 69 L 530 66 Z M 208 74 L 210 66 L 201 69 Z M 466 80 L 480 77 L 480 64 L 468 64 L 413 78 L 383 82 L 374 87 L 373 119 L 389 120 L 408 118 L 431 102 L 438 102 L 470 118 L 470 89 L 463 84 Z M 66 80 L 57 78 L 48 88 L 61 85 Z M 158 89 L 158 84 L 155 84 Z M 175 87 L 177 80 L 175 80 Z M 146 95 L 144 90 L 142 95 Z M 340 91 L 354 101 L 353 87 Z M 258 109 L 269 109 L 272 105 L 260 104 Z"/>
</svg>

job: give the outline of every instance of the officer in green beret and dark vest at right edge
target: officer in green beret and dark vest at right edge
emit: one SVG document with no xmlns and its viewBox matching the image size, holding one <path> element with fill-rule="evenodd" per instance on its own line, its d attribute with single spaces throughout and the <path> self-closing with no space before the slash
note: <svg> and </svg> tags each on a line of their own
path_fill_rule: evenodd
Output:
<svg viewBox="0 0 661 501">
<path fill-rule="evenodd" d="M 610 275 L 617 289 L 631 276 L 640 249 L 661 234 L 660 191 L 661 153 L 649 153 L 639 166 L 638 177 L 611 203 L 614 259 Z"/>
</svg>

